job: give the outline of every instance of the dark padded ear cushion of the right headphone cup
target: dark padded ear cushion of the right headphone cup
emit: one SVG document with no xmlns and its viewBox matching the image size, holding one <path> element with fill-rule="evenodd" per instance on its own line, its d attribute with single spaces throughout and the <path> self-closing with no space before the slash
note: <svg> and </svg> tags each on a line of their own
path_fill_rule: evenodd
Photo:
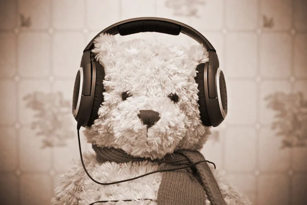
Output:
<svg viewBox="0 0 307 205">
<path fill-rule="evenodd" d="M 207 73 L 205 73 L 204 75 L 204 71 L 205 70 L 206 70 L 205 72 L 208 71 L 208 69 L 205 69 L 205 67 L 208 67 L 208 64 L 209 64 L 208 62 L 206 64 L 204 63 L 199 64 L 196 67 L 196 71 L 198 71 L 198 73 L 196 73 L 196 77 L 195 77 L 195 81 L 196 81 L 196 84 L 198 84 L 198 90 L 199 90 L 198 104 L 199 104 L 199 109 L 200 109 L 200 115 L 201 115 L 201 120 L 204 126 L 211 126 L 211 121 L 208 115 L 206 96 L 205 96 L 205 89 L 208 89 L 208 86 L 204 84 L 204 77 L 205 76 L 207 77 Z"/>
</svg>

